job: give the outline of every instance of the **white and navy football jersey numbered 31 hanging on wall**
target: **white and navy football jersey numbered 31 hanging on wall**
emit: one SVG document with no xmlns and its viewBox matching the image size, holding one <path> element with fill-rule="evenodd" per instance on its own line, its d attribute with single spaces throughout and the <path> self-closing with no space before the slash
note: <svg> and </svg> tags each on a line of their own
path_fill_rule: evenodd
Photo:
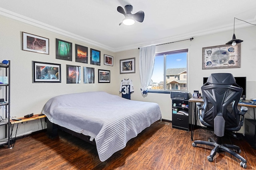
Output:
<svg viewBox="0 0 256 170">
<path fill-rule="evenodd" d="M 122 93 L 122 98 L 131 99 L 131 92 L 134 92 L 132 80 L 124 78 L 121 81 L 119 92 Z"/>
</svg>

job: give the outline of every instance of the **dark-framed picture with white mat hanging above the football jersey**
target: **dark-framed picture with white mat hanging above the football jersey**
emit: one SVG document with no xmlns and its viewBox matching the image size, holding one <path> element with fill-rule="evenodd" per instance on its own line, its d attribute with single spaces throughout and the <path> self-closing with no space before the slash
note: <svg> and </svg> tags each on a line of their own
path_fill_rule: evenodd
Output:
<svg viewBox="0 0 256 170">
<path fill-rule="evenodd" d="M 135 58 L 120 60 L 120 74 L 135 73 Z"/>
</svg>

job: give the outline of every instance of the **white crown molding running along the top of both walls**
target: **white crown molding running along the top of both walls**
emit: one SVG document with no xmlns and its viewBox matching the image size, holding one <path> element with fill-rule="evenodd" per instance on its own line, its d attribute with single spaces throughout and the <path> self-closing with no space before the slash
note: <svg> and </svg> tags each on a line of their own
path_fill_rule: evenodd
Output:
<svg viewBox="0 0 256 170">
<path fill-rule="evenodd" d="M 46 29 L 48 31 L 52 31 L 54 33 L 58 33 L 60 35 L 64 35 L 66 37 L 70 37 L 72 39 L 76 39 L 78 41 L 84 42 L 84 43 L 88 43 L 90 45 L 94 45 L 96 47 L 108 50 L 110 52 L 116 53 L 116 52 L 120 52 L 120 51 L 127 51 L 127 50 L 131 50 L 131 49 L 136 49 L 138 47 L 144 47 L 144 46 L 148 46 L 148 45 L 158 45 L 158 44 L 162 44 L 162 43 L 168 43 L 168 42 L 172 42 L 172 41 L 179 41 L 182 39 L 188 39 L 191 37 L 199 37 L 199 36 L 203 36 L 203 35 L 209 35 L 209 34 L 214 34 L 214 33 L 219 33 L 219 32 L 223 32 L 223 31 L 230 31 L 233 30 L 234 24 L 227 24 L 227 25 L 221 25 L 218 27 L 213 27 L 211 29 L 201 29 L 201 30 L 197 30 L 197 31 L 193 31 L 193 32 L 189 32 L 189 33 L 182 33 L 180 35 L 174 35 L 174 36 L 170 36 L 170 37 L 165 37 L 162 39 L 155 39 L 153 41 L 148 41 L 148 42 L 142 42 L 142 43 L 137 43 L 137 44 L 132 44 L 132 45 L 128 45 L 128 46 L 124 46 L 124 47 L 120 47 L 120 48 L 112 48 L 109 47 L 107 45 L 104 45 L 102 43 L 98 43 L 96 41 L 93 41 L 91 39 L 87 39 L 85 37 L 76 35 L 74 33 L 70 33 L 68 31 L 64 31 L 63 29 L 59 29 L 56 27 L 53 27 L 51 25 L 48 25 L 46 23 L 42 23 L 40 21 L 22 16 L 20 14 L 16 14 L 14 12 L 11 12 L 9 10 L 5 10 L 3 8 L 0 8 L 0 15 L 2 16 L 6 16 L 8 18 L 12 18 L 14 20 L 18 20 L 36 27 L 40 27 L 43 29 Z M 256 16 L 254 16 L 253 19 L 247 20 L 250 23 L 256 24 Z M 235 23 L 235 29 L 239 29 L 242 27 L 249 27 L 249 26 L 253 26 L 250 25 L 248 23 L 245 23 L 243 21 L 236 21 Z"/>
</svg>

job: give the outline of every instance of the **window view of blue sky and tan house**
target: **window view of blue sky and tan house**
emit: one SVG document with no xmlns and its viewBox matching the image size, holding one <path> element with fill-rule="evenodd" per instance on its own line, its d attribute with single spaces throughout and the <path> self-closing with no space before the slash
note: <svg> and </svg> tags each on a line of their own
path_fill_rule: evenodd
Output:
<svg viewBox="0 0 256 170">
<path fill-rule="evenodd" d="M 156 53 L 148 89 L 187 91 L 187 59 L 188 49 Z"/>
</svg>

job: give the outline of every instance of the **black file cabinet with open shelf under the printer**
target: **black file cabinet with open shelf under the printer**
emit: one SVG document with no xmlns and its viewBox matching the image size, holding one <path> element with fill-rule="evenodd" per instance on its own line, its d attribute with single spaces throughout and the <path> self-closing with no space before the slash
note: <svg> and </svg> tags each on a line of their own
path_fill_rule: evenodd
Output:
<svg viewBox="0 0 256 170">
<path fill-rule="evenodd" d="M 172 127 L 190 131 L 188 100 L 172 99 Z"/>
</svg>

